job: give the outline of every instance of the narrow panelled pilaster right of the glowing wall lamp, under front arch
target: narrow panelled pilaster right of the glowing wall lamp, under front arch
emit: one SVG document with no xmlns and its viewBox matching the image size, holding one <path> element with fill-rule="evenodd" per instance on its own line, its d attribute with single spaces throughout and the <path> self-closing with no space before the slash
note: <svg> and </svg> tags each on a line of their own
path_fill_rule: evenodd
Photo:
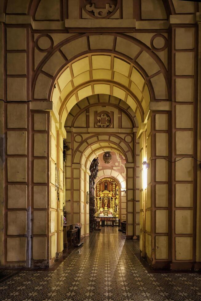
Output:
<svg viewBox="0 0 201 301">
<path fill-rule="evenodd" d="M 168 162 L 171 161 L 171 111 L 161 109 L 151 111 L 147 124 L 150 167 L 146 206 L 151 215 L 146 216 L 146 230 L 149 227 L 152 236 L 150 260 L 154 268 L 168 268 L 171 260 L 171 163 Z"/>
</svg>

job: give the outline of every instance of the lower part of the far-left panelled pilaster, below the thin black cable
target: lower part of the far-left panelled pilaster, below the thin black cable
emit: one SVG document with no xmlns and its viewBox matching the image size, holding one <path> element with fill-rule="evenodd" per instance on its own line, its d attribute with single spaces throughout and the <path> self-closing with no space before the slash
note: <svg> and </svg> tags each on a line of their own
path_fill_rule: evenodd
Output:
<svg viewBox="0 0 201 301">
<path fill-rule="evenodd" d="M 29 105 L 6 106 L 6 261 L 26 266 L 26 237 L 30 223 L 29 183 Z M 16 251 L 17 250 L 17 251 Z"/>
</svg>

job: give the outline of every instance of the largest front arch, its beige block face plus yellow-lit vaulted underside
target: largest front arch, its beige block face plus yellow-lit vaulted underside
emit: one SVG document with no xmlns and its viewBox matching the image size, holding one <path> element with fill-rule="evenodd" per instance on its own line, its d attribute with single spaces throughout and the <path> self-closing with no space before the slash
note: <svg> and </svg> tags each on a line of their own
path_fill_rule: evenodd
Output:
<svg viewBox="0 0 201 301">
<path fill-rule="evenodd" d="M 109 82 L 115 86 L 114 90 L 118 91 L 116 88 L 120 87 L 122 94 L 127 96 L 130 93 L 129 96 L 138 102 L 139 107 L 141 104 L 141 115 L 150 100 L 168 99 L 167 70 L 148 46 L 134 37 L 107 33 L 111 41 L 116 41 L 115 50 L 100 50 L 98 45 L 92 50 L 88 44 L 93 36 L 73 36 L 53 47 L 36 69 L 33 99 L 52 99 L 59 111 L 63 102 L 73 96 L 73 91 L 79 98 L 81 86 L 93 82 Z M 101 40 L 104 36 L 98 37 Z M 144 97 L 146 93 L 148 96 Z"/>
</svg>

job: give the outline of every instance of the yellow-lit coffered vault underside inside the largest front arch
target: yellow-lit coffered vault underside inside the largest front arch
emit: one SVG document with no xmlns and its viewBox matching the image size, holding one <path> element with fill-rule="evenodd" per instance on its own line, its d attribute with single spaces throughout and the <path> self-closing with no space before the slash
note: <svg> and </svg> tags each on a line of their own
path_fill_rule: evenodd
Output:
<svg viewBox="0 0 201 301">
<path fill-rule="evenodd" d="M 76 103 L 100 93 L 121 98 L 136 113 L 138 122 L 144 121 L 144 112 L 151 100 L 147 81 L 128 61 L 100 53 L 79 58 L 58 76 L 52 100 L 59 111 L 60 122 L 65 122 Z"/>
</svg>

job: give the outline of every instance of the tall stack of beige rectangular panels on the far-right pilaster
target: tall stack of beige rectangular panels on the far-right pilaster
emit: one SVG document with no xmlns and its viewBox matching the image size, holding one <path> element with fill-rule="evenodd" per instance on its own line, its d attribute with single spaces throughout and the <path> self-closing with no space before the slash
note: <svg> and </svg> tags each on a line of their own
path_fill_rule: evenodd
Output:
<svg viewBox="0 0 201 301">
<path fill-rule="evenodd" d="M 177 3 L 178 5 L 178 3 Z M 192 5 L 192 3 L 189 3 Z M 177 7 L 179 9 L 179 6 Z M 190 9 L 190 6 L 189 6 Z M 182 160 L 175 163 L 175 181 L 174 195 L 174 216 L 173 221 L 173 260 L 195 260 L 195 194 L 196 187 L 196 169 L 197 164 L 191 158 L 195 155 L 195 28 L 175 28 L 175 131 L 174 139 L 175 149 L 173 154 L 175 160 L 182 157 Z M 186 50 L 187 49 L 187 50 Z M 186 65 L 186 60 L 188 64 Z M 178 76 L 178 78 L 177 78 Z M 184 88 L 185 87 L 185 88 Z M 187 91 L 187 93 L 185 93 Z M 184 196 L 184 191 L 186 196 Z M 188 245 L 188 250 L 186 246 Z"/>
</svg>

